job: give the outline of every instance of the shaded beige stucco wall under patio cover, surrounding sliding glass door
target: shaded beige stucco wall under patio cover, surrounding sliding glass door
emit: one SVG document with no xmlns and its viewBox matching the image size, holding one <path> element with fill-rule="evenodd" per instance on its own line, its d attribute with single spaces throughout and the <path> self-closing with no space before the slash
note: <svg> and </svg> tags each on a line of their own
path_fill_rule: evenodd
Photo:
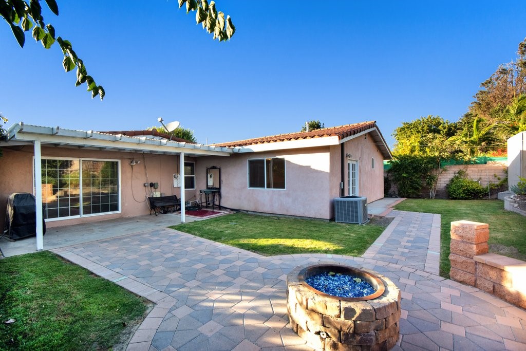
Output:
<svg viewBox="0 0 526 351">
<path fill-rule="evenodd" d="M 16 192 L 33 193 L 33 146 L 3 148 L 0 158 L 0 228 L 4 228 L 7 198 Z M 149 213 L 146 197 L 153 188 L 144 183 L 159 183 L 155 191 L 165 195 L 180 196 L 180 188 L 173 187 L 173 174 L 179 173 L 179 157 L 169 155 L 138 154 L 110 151 L 90 151 L 86 149 L 42 147 L 42 157 L 71 157 L 91 159 L 114 159 L 120 161 L 121 212 L 64 220 L 46 221 L 47 227 L 94 222 L 118 217 L 133 217 Z M 130 161 L 139 164 L 133 167 Z M 186 161 L 195 161 L 186 159 Z M 131 192 L 133 189 L 133 192 Z M 185 192 L 186 199 L 195 198 L 195 190 Z"/>
</svg>

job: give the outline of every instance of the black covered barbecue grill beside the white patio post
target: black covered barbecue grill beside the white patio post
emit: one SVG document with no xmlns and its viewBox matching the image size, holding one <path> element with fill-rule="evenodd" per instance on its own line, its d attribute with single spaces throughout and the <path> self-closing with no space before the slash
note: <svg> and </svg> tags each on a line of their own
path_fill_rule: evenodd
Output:
<svg viewBox="0 0 526 351">
<path fill-rule="evenodd" d="M 36 201 L 32 194 L 13 193 L 7 199 L 4 235 L 9 239 L 22 239 L 36 236 Z M 46 223 L 42 219 L 43 234 L 46 234 Z"/>
</svg>

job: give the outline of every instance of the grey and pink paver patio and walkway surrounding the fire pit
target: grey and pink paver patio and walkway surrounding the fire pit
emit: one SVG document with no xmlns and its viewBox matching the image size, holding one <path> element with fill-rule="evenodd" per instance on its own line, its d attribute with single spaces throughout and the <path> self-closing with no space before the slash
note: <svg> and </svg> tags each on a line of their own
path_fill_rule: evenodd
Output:
<svg viewBox="0 0 526 351">
<path fill-rule="evenodd" d="M 526 311 L 438 274 L 440 216 L 393 211 L 363 257 L 264 257 L 171 229 L 55 249 L 156 302 L 128 350 L 309 350 L 288 327 L 285 279 L 308 262 L 388 276 L 402 292 L 404 350 L 526 349 Z"/>
</svg>

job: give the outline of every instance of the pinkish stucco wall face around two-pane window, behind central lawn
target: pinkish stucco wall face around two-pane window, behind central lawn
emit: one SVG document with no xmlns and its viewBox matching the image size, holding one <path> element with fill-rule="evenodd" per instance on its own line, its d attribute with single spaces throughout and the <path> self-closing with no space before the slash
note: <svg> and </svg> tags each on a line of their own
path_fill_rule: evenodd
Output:
<svg viewBox="0 0 526 351">
<path fill-rule="evenodd" d="M 286 189 L 248 188 L 248 159 L 284 157 Z M 206 188 L 206 168 L 221 168 L 221 205 L 292 216 L 330 218 L 329 148 L 242 153 L 198 158 L 197 186 Z"/>
</svg>

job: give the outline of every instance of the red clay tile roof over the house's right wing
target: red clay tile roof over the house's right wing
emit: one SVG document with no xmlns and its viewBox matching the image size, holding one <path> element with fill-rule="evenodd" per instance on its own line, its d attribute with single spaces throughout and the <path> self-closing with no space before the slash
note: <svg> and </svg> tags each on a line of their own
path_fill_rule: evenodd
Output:
<svg viewBox="0 0 526 351">
<path fill-rule="evenodd" d="M 296 132 L 296 133 L 264 136 L 260 138 L 245 139 L 245 140 L 240 140 L 237 142 L 219 143 L 219 144 L 214 144 L 214 145 L 220 146 L 220 147 L 235 147 L 235 146 L 247 146 L 247 145 L 255 145 L 255 144 L 285 142 L 285 141 L 300 140 L 300 139 L 323 138 L 323 137 L 328 137 L 328 136 L 337 136 L 338 139 L 341 140 L 348 136 L 355 135 L 361 132 L 365 132 L 368 129 L 372 129 L 375 127 L 376 127 L 376 121 L 369 121 L 369 122 L 361 122 L 361 123 L 355 123 L 355 124 L 347 124 L 347 125 L 338 126 L 338 127 L 316 129 L 310 132 Z"/>
</svg>

